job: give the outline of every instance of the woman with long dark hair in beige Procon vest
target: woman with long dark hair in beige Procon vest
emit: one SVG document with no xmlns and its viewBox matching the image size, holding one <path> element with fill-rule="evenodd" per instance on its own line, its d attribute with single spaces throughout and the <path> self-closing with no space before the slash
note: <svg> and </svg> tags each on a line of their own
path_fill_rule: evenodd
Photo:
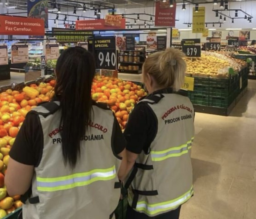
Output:
<svg viewBox="0 0 256 219">
<path fill-rule="evenodd" d="M 90 52 L 66 49 L 55 97 L 21 126 L 5 182 L 10 196 L 22 195 L 24 219 L 106 219 L 118 205 L 126 141 L 112 111 L 91 99 L 94 74 Z"/>
</svg>

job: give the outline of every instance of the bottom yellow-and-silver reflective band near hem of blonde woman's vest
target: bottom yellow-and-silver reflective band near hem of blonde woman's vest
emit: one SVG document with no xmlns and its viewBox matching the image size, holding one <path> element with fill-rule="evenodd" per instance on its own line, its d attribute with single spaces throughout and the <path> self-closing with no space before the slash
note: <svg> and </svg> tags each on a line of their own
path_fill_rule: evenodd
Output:
<svg viewBox="0 0 256 219">
<path fill-rule="evenodd" d="M 141 201 L 137 203 L 136 210 L 137 211 L 143 211 L 147 213 L 148 215 L 155 215 L 156 213 L 163 212 L 163 211 L 168 211 L 175 209 L 188 201 L 191 196 L 193 195 L 193 186 L 191 189 L 183 194 L 182 196 L 173 199 L 171 201 L 165 201 L 165 202 L 160 202 L 156 204 L 148 204 L 146 201 Z M 140 207 L 141 206 L 141 207 Z"/>
</svg>

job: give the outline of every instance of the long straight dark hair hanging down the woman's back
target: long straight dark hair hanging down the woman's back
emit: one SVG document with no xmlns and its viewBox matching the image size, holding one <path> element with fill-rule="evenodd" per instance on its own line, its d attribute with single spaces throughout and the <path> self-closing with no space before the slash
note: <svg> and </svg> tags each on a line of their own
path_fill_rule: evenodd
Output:
<svg viewBox="0 0 256 219">
<path fill-rule="evenodd" d="M 93 55 L 82 47 L 66 49 L 56 64 L 55 95 L 60 99 L 62 155 L 74 168 L 80 156 L 80 139 L 91 120 L 91 88 L 95 74 Z"/>
</svg>

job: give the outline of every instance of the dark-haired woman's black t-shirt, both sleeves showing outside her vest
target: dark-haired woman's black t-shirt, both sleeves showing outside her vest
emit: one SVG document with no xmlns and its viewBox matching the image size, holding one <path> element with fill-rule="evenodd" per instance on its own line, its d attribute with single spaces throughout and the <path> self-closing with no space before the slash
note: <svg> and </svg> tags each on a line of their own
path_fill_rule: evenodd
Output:
<svg viewBox="0 0 256 219">
<path fill-rule="evenodd" d="M 126 140 L 116 118 L 114 120 L 112 138 L 114 152 L 116 154 L 121 153 L 126 147 Z M 35 113 L 28 113 L 9 155 L 19 163 L 36 167 L 40 163 L 43 147 L 44 136 L 39 116 Z"/>
</svg>

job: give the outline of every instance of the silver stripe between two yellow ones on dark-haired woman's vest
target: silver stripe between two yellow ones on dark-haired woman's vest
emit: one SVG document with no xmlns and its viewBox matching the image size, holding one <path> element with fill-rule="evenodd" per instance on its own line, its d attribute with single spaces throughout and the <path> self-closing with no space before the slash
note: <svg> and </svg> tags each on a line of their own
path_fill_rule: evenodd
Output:
<svg viewBox="0 0 256 219">
<path fill-rule="evenodd" d="M 72 183 L 90 181 L 90 180 L 92 180 L 96 177 L 107 178 L 107 177 L 111 177 L 113 175 L 116 175 L 116 169 L 114 169 L 113 171 L 109 171 L 109 172 L 96 172 L 96 173 L 92 173 L 89 176 L 74 177 L 72 179 L 60 180 L 60 181 L 56 181 L 56 182 L 40 182 L 40 181 L 37 181 L 37 186 L 38 187 L 66 186 L 66 185 L 70 185 Z"/>
</svg>

